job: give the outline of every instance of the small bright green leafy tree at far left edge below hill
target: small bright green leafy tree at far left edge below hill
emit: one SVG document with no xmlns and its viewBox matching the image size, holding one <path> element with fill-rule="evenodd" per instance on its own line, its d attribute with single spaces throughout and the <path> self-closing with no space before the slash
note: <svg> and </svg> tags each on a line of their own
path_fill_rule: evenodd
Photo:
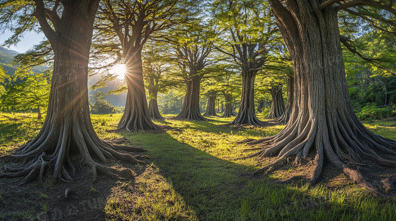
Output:
<svg viewBox="0 0 396 221">
<path fill-rule="evenodd" d="M 42 110 L 48 107 L 50 85 L 43 73 L 26 76 L 21 83 L 10 84 L 7 92 L 0 97 L 4 110 L 28 110 L 37 108 L 38 119 Z"/>
</svg>

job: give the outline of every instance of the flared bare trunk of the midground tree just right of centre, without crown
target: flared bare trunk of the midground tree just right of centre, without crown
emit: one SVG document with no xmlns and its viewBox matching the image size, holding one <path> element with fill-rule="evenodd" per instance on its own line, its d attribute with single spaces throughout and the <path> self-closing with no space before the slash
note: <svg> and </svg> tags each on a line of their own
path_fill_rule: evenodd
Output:
<svg viewBox="0 0 396 221">
<path fill-rule="evenodd" d="M 254 125 L 263 126 L 264 123 L 256 117 L 254 105 L 254 79 L 257 71 L 242 69 L 242 95 L 237 117 L 228 125 Z"/>
</svg>

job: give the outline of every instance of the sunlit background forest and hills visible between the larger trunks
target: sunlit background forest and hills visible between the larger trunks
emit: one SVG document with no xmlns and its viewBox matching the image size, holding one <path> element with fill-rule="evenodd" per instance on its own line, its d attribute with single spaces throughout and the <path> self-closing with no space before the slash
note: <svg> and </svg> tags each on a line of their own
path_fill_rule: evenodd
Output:
<svg viewBox="0 0 396 221">
<path fill-rule="evenodd" d="M 205 14 L 204 16 L 207 18 L 210 15 Z M 214 17 L 212 23 L 223 19 Z M 190 24 L 184 25 L 187 27 Z M 211 26 L 212 24 L 205 25 Z M 260 25 L 264 27 L 266 24 L 261 23 Z M 227 102 L 231 104 L 233 111 L 238 112 L 242 79 L 239 74 L 240 68 L 236 66 L 232 56 L 229 57 L 225 51 L 229 50 L 225 43 L 229 33 L 219 26 L 212 26 L 213 30 L 200 26 L 194 28 L 200 34 L 217 31 L 216 35 L 212 36 L 211 45 L 206 46 L 211 50 L 210 59 L 215 62 L 202 70 L 208 74 L 201 83 L 200 110 L 205 113 L 209 97 L 212 96 L 215 112 L 221 115 L 226 105 L 226 95 L 232 98 Z M 373 29 L 356 16 L 345 16 L 342 21 L 340 20 L 340 27 L 341 31 L 347 33 L 348 39 L 353 42 L 351 44 L 354 50 L 358 51 L 357 55 L 346 48 L 343 50 L 348 89 L 355 113 L 361 120 L 394 116 L 396 114 L 393 111 L 396 100 L 396 44 L 393 35 Z M 256 31 L 248 26 L 245 26 L 244 29 L 246 32 Z M 177 65 L 177 51 L 172 43 L 189 41 L 192 39 L 191 37 L 193 36 L 185 36 L 184 39 L 182 37 L 167 39 L 166 42 L 149 42 L 143 48 L 146 98 L 147 101 L 153 98 L 149 90 L 155 88 L 158 93 L 156 100 L 161 114 L 178 114 L 182 108 L 186 87 L 182 83 L 183 76 L 180 75 L 182 67 Z M 196 43 L 201 43 L 199 39 L 194 40 L 197 41 Z M 258 38 L 255 40 L 260 41 Z M 283 105 L 286 105 L 286 81 L 287 76 L 292 74 L 287 51 L 284 51 L 286 49 L 283 39 L 274 38 L 273 41 L 278 46 L 271 52 L 271 62 L 265 69 L 257 73 L 257 80 L 254 82 L 255 105 L 257 113 L 264 111 L 261 113 L 262 116 L 266 116 L 270 112 L 274 99 L 271 96 L 271 90 L 274 90 L 275 85 L 280 87 L 282 102 Z M 6 48 L 0 49 L 0 63 L 3 68 L 0 70 L 1 110 L 37 112 L 39 108 L 41 112 L 45 112 L 49 87 L 40 83 L 46 81 L 48 85 L 50 84 L 51 78 L 48 73 L 50 73 L 52 65 L 50 58 L 40 57 L 46 49 L 46 42 L 44 41 L 42 44 L 23 54 Z M 96 50 L 95 53 L 100 52 L 100 49 L 93 50 Z M 100 56 L 95 53 L 93 59 L 98 59 Z M 117 57 L 112 57 L 112 54 L 101 56 L 106 57 L 107 61 L 117 60 Z M 31 59 L 32 57 L 35 59 Z M 101 58 L 103 59 L 103 57 Z M 91 77 L 89 78 L 91 113 L 121 113 L 126 99 L 126 83 L 123 79 L 122 64 L 120 68 L 120 63 L 117 62 L 102 63 L 102 66 L 91 63 Z M 150 80 L 158 82 L 150 84 Z M 23 92 L 18 90 L 18 87 L 22 85 L 25 88 Z M 32 91 L 34 89 L 37 90 L 37 96 Z M 22 97 L 25 98 L 21 99 Z"/>
</svg>

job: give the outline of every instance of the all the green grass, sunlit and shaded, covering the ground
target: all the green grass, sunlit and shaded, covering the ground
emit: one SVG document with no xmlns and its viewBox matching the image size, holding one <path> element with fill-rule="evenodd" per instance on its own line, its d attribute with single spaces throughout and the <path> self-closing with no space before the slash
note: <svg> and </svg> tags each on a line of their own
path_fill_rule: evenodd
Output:
<svg viewBox="0 0 396 221">
<path fill-rule="evenodd" d="M 396 220 L 395 197 L 374 197 L 353 184 L 320 183 L 312 188 L 305 181 L 271 184 L 300 168 L 251 178 L 252 171 L 265 162 L 238 159 L 253 151 L 245 151 L 248 147 L 236 142 L 275 135 L 282 125 L 236 128 L 223 126 L 231 118 L 211 118 L 205 122 L 156 121 L 181 129 L 162 134 L 106 132 L 116 127 L 120 117 L 91 116 L 102 139 L 125 137 L 127 145 L 148 150 L 151 160 L 133 182 L 114 185 L 103 208 L 108 220 Z M 34 138 L 42 122 L 6 119 L 0 117 L 0 154 Z M 376 134 L 396 140 L 394 121 L 364 124 Z M 36 213 L 26 211 L 31 217 Z"/>
</svg>

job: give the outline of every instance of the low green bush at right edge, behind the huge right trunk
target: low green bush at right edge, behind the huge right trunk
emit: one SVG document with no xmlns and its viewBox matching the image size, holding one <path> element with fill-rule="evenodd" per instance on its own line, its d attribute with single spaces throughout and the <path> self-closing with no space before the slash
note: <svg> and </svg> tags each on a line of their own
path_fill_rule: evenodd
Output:
<svg viewBox="0 0 396 221">
<path fill-rule="evenodd" d="M 379 120 L 385 117 L 393 117 L 396 116 L 396 106 L 378 108 L 375 104 L 367 103 L 356 115 L 360 120 Z"/>
</svg>

